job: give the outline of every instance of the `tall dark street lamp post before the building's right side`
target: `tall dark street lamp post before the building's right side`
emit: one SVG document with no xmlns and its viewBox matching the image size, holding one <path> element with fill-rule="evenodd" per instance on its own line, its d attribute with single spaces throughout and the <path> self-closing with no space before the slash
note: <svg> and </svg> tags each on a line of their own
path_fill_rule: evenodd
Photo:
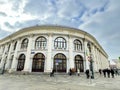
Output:
<svg viewBox="0 0 120 90">
<path fill-rule="evenodd" d="M 87 44 L 87 47 L 88 47 L 88 49 L 89 49 L 89 53 L 90 53 L 90 60 L 89 60 L 89 62 L 90 62 L 90 77 L 91 77 L 91 79 L 94 79 L 94 71 L 93 71 L 93 59 L 92 59 L 92 53 L 91 53 L 91 45 L 90 45 L 90 43 L 88 43 Z"/>
</svg>

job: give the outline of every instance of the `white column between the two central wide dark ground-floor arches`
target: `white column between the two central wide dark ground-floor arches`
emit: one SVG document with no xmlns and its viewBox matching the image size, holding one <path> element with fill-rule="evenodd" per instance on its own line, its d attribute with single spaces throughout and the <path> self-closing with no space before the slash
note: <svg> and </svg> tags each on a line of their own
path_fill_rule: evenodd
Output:
<svg viewBox="0 0 120 90">
<path fill-rule="evenodd" d="M 47 59 L 45 60 L 45 72 L 51 72 L 52 69 L 52 35 L 49 34 L 48 37 L 48 42 L 47 42 L 47 48 L 48 48 L 48 52 L 47 52 Z"/>
</svg>

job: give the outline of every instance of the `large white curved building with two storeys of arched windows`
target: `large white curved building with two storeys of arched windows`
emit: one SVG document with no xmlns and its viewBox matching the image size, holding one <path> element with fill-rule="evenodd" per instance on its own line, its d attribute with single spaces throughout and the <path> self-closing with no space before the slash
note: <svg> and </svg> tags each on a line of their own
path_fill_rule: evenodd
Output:
<svg viewBox="0 0 120 90">
<path fill-rule="evenodd" d="M 108 55 L 89 33 L 64 26 L 33 26 L 0 40 L 0 69 L 9 72 L 84 72 L 109 66 Z"/>
</svg>

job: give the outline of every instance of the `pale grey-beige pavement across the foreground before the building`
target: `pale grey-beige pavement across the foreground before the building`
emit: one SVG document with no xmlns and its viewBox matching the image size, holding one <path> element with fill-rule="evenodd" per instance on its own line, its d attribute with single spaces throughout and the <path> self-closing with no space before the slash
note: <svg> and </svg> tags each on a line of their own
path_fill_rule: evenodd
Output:
<svg viewBox="0 0 120 90">
<path fill-rule="evenodd" d="M 0 90 L 120 90 L 120 76 L 104 78 L 95 74 L 95 79 L 77 75 L 0 75 Z"/>
</svg>

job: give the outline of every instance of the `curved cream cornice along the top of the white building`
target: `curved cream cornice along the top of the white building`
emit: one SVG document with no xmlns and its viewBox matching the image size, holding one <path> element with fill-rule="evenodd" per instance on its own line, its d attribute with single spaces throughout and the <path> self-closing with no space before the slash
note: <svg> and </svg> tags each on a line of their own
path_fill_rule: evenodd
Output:
<svg viewBox="0 0 120 90">
<path fill-rule="evenodd" d="M 66 27 L 66 26 L 54 26 L 54 25 L 42 25 L 42 26 L 32 26 L 20 29 L 19 31 L 16 31 L 15 33 L 7 36 L 6 38 L 3 38 L 0 40 L 0 43 L 7 43 L 14 39 L 21 38 L 28 35 L 34 35 L 34 34 L 63 34 L 63 35 L 70 35 L 70 36 L 79 36 L 83 35 L 81 38 L 84 38 L 85 40 L 88 40 L 92 43 L 95 43 L 96 46 L 98 46 L 105 54 L 106 52 L 104 49 L 100 46 L 98 41 L 89 33 L 72 27 Z M 107 54 L 106 54 L 107 55 Z"/>
</svg>

